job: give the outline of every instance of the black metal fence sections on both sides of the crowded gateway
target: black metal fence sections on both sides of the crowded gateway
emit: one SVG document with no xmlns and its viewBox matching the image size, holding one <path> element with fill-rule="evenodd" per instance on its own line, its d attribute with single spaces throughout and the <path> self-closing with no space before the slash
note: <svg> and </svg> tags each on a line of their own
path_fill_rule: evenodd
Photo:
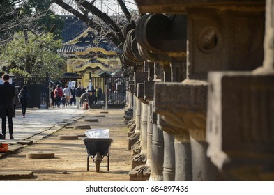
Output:
<svg viewBox="0 0 274 195">
<path fill-rule="evenodd" d="M 50 107 L 50 79 L 48 77 L 15 77 L 13 81 L 19 90 L 22 86 L 27 86 L 31 95 L 28 107 Z M 123 77 L 92 77 L 90 82 L 93 92 L 91 107 L 124 107 L 126 104 L 125 83 L 126 79 Z"/>
</svg>

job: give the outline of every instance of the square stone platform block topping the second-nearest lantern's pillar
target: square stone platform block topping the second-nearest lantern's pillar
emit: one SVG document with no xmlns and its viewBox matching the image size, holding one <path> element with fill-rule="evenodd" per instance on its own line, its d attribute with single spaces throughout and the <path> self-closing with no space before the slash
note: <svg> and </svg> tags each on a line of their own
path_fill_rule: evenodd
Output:
<svg viewBox="0 0 274 195">
<path fill-rule="evenodd" d="M 155 111 L 169 124 L 181 129 L 205 130 L 206 81 L 155 84 Z M 178 132 L 177 134 L 181 134 Z"/>
</svg>

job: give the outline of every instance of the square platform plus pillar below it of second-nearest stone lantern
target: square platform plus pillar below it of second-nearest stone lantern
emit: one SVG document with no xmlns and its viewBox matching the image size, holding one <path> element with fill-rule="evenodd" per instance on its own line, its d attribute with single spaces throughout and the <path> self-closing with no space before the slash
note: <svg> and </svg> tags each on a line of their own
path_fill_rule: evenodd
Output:
<svg viewBox="0 0 274 195">
<path fill-rule="evenodd" d="M 213 164 L 206 157 L 207 145 L 203 136 L 206 131 L 204 101 L 207 83 L 186 80 L 183 84 L 155 84 L 155 111 L 167 123 L 176 126 L 176 180 L 217 180 L 218 170 L 215 168 L 214 171 Z M 183 93 L 185 91 L 188 93 Z"/>
</svg>

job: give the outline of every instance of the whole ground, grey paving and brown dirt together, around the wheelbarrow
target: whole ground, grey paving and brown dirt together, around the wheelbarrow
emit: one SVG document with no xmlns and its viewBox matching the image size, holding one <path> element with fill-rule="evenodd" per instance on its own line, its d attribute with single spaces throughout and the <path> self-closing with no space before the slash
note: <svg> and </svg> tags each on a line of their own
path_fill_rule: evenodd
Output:
<svg viewBox="0 0 274 195">
<path fill-rule="evenodd" d="M 9 137 L 3 140 L 10 145 L 8 153 L 0 153 L 0 181 L 128 181 L 132 159 L 123 115 L 123 109 L 83 111 L 75 107 L 29 109 L 26 118 L 19 112 L 15 118 L 15 140 Z M 89 157 L 93 167 L 87 170 L 83 139 L 85 131 L 91 128 L 109 129 L 112 138 L 109 171 L 105 166 L 107 157 L 100 164 L 100 172 L 96 172 Z M 75 135 L 77 139 L 60 139 Z M 26 145 L 24 141 L 33 144 Z M 49 153 L 54 153 L 54 157 L 29 155 Z"/>
</svg>

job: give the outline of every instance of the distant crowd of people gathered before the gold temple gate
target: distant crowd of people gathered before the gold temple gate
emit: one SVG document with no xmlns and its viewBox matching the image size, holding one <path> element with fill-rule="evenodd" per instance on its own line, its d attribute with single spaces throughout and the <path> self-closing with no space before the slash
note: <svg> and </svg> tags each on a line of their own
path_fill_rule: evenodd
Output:
<svg viewBox="0 0 274 195">
<path fill-rule="evenodd" d="M 88 109 L 92 107 L 92 104 L 100 101 L 101 97 L 102 89 L 97 86 L 92 86 L 89 90 L 88 87 L 84 88 L 84 86 L 78 86 L 77 88 L 65 86 L 65 88 L 61 88 L 60 85 L 57 85 L 52 88 L 50 94 L 52 107 L 58 108 L 75 105 L 77 109 L 80 107 Z"/>
</svg>

